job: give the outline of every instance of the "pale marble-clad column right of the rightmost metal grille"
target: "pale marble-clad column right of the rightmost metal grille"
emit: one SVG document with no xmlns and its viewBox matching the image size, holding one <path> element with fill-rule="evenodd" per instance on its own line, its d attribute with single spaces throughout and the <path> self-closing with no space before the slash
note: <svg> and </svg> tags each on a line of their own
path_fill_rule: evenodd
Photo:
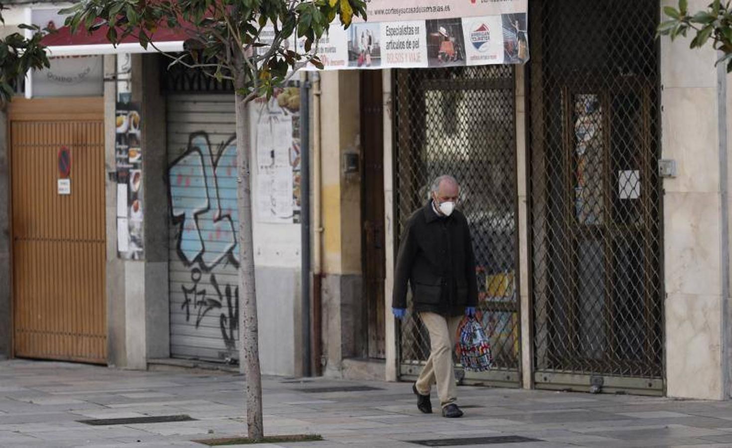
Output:
<svg viewBox="0 0 732 448">
<path fill-rule="evenodd" d="M 689 3 L 690 11 L 708 4 Z M 675 3 L 662 1 L 667 4 Z M 727 381 L 722 362 L 729 362 L 720 166 L 720 136 L 726 136 L 717 55 L 709 46 L 690 50 L 691 37 L 661 39 L 662 158 L 678 164 L 676 178 L 663 181 L 666 385 L 671 397 L 719 400 Z"/>
</svg>

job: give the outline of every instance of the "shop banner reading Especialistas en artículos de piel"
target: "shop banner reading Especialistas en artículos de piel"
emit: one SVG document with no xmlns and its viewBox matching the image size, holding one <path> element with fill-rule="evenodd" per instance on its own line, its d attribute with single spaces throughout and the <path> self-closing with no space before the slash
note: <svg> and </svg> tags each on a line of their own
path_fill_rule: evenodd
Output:
<svg viewBox="0 0 732 448">
<path fill-rule="evenodd" d="M 370 0 L 368 21 L 332 26 L 318 56 L 326 70 L 524 64 L 526 12 L 527 0 Z"/>
</svg>

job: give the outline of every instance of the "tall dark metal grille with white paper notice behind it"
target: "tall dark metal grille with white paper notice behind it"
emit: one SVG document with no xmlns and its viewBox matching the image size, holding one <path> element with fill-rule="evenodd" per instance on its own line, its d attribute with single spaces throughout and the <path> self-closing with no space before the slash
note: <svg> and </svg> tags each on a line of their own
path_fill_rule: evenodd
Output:
<svg viewBox="0 0 732 448">
<path fill-rule="evenodd" d="M 659 8 L 531 3 L 537 387 L 662 391 Z"/>
</svg>

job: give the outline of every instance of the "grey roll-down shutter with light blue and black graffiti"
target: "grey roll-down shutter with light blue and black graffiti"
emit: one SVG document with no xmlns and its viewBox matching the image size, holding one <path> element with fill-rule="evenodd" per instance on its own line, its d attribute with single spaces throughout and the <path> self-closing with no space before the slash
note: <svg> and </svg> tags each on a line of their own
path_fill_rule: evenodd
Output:
<svg viewBox="0 0 732 448">
<path fill-rule="evenodd" d="M 171 356 L 239 358 L 233 94 L 167 97 Z"/>
</svg>

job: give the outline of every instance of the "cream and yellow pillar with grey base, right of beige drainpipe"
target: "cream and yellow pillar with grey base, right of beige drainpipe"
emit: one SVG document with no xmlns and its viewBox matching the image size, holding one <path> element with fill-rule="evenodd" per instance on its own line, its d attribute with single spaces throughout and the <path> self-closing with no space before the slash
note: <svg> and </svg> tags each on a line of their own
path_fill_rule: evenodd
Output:
<svg viewBox="0 0 732 448">
<path fill-rule="evenodd" d="M 343 153 L 360 151 L 359 72 L 324 72 L 321 90 L 324 373 L 340 377 L 343 359 L 356 354 L 357 338 L 366 333 L 361 325 L 361 173 L 342 170 Z"/>
</svg>

